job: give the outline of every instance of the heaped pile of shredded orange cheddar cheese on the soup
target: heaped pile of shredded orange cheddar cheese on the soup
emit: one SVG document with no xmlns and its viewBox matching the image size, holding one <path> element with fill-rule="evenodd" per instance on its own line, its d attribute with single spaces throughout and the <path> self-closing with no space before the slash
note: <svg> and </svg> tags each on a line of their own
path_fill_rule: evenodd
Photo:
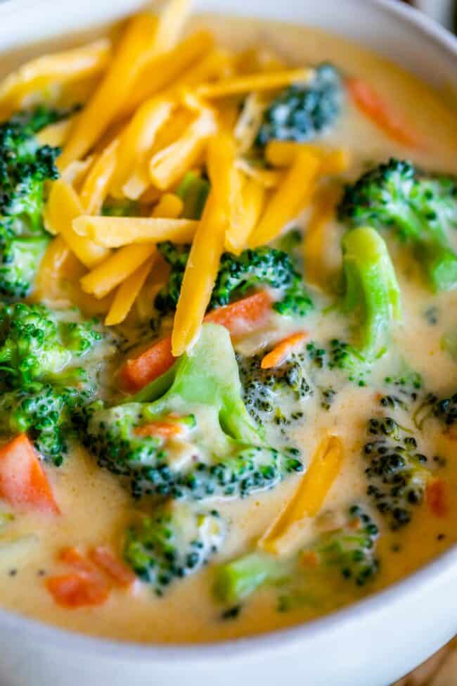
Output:
<svg viewBox="0 0 457 686">
<path fill-rule="evenodd" d="M 275 239 L 313 201 L 318 182 L 347 165 L 344 151 L 282 141 L 267 146 L 269 167 L 253 164 L 245 153 L 266 103 L 313 70 L 288 69 L 260 50 L 231 53 L 205 31 L 183 37 L 189 10 L 188 0 L 170 0 L 158 17 L 131 18 L 114 45 L 100 39 L 40 57 L 0 83 L 3 118 L 91 84 L 82 110 L 39 134 L 41 144 L 63 148 L 46 203 L 46 229 L 56 237 L 41 263 L 39 298 L 52 299 L 65 272 L 77 303 L 89 310 L 95 299 L 105 324 L 120 324 L 148 281 L 164 278 L 156 244 L 191 243 L 174 355 L 198 335 L 221 253 Z M 211 184 L 199 221 L 181 217 L 176 195 L 190 170 L 205 171 Z M 139 203 L 140 216 L 102 216 L 108 197 Z M 324 200 L 305 241 L 311 255 L 331 193 Z"/>
</svg>

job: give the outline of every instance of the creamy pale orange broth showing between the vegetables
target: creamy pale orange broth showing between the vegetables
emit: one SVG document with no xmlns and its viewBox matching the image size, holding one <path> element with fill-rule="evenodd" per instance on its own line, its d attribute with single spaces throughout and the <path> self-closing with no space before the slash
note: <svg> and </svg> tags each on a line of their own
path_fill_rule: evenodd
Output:
<svg viewBox="0 0 457 686">
<path fill-rule="evenodd" d="M 371 82 L 376 82 L 380 94 L 401 108 L 406 120 L 413 122 L 426 146 L 420 151 L 405 151 L 347 103 L 336 129 L 326 139 L 330 144 L 344 145 L 352 151 L 348 178 L 356 177 L 366 160 L 385 160 L 390 155 L 411 158 L 432 170 L 457 172 L 456 113 L 449 110 L 430 87 L 392 63 L 333 35 L 306 27 L 212 16 L 195 20 L 195 23 L 210 27 L 217 42 L 231 48 L 266 46 L 285 61 L 298 65 L 333 61 L 352 75 L 369 77 Z M 336 267 L 340 253 L 336 225 L 330 227 L 328 235 L 330 245 L 326 259 L 328 266 Z M 421 285 L 411 265 L 396 262 L 396 267 L 404 306 L 404 322 L 395 332 L 399 348 L 408 364 L 423 374 L 427 388 L 438 393 L 453 392 L 456 363 L 449 353 L 441 350 L 439 339 L 443 331 L 455 326 L 457 293 L 433 296 Z M 423 317 L 430 305 L 439 307 L 439 326 L 430 326 Z M 277 338 L 287 333 L 284 324 L 281 326 L 273 331 Z M 312 331 L 312 338 L 325 340 L 333 331 L 337 333 L 340 320 L 313 315 L 307 319 L 306 326 Z M 245 347 L 248 343 L 245 342 Z M 302 429 L 291 436 L 291 441 L 302 447 L 305 462 L 326 430 L 334 431 L 342 438 L 344 465 L 328 495 L 324 512 L 344 509 L 351 502 L 365 502 L 361 446 L 364 426 L 376 406 L 374 396 L 373 388 L 357 388 L 348 383 L 328 412 L 321 410 L 316 400 L 309 400 L 307 419 Z M 437 519 L 424 504 L 416 508 L 411 525 L 400 533 L 394 535 L 382 530 L 379 542 L 381 571 L 363 593 L 378 590 L 417 569 L 457 539 L 456 443 L 430 430 L 422 450 L 427 455 L 448 458 L 439 475 L 448 484 L 449 516 Z M 67 571 L 56 562 L 58 551 L 67 545 L 85 550 L 101 543 L 108 543 L 119 551 L 122 531 L 136 506 L 117 478 L 99 469 L 95 460 L 79 449 L 67 457 L 60 469 L 49 469 L 49 478 L 62 514 L 54 519 L 27 516 L 13 523 L 12 531 L 37 533 L 39 546 L 27 565 L 18 565 L 15 576 L 10 576 L 8 569 L 0 572 L 4 575 L 0 584 L 0 604 L 7 609 L 92 635 L 141 642 L 195 642 L 223 640 L 298 623 L 361 596 L 362 591 L 342 580 L 341 588 L 332 593 L 325 604 L 310 604 L 279 613 L 271 590 L 266 589 L 247 602 L 236 621 L 222 621 L 221 607 L 212 596 L 212 569 L 209 566 L 174 584 L 165 599 L 155 597 L 148 587 L 138 584 L 133 594 L 115 590 L 102 606 L 62 609 L 53 602 L 44 586 L 46 574 Z M 244 552 L 264 533 L 292 494 L 297 478 L 288 478 L 272 492 L 243 502 L 217 504 L 221 514 L 230 521 L 228 540 L 217 561 Z M 304 525 L 303 540 L 312 538 L 313 528 L 313 523 Z M 394 545 L 399 545 L 399 552 L 392 551 Z"/>
</svg>

